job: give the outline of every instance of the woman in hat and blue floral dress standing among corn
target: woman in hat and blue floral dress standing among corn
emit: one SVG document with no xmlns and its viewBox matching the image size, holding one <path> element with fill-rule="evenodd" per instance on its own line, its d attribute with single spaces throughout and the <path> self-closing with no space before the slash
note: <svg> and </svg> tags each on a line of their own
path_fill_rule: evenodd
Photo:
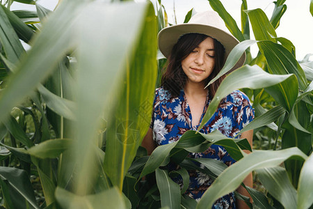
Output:
<svg viewBox="0 0 313 209">
<path fill-rule="evenodd" d="M 161 88 L 157 88 L 152 123 L 143 139 L 142 145 L 149 155 L 156 146 L 177 141 L 187 130 L 198 130 L 223 77 L 209 88 L 205 86 L 223 68 L 228 54 L 239 43 L 212 11 L 194 15 L 188 24 L 163 29 L 158 40 L 159 49 L 168 58 L 168 67 L 161 79 Z M 235 68 L 243 65 L 244 60 L 243 55 Z M 220 102 L 216 113 L 200 132 L 207 134 L 217 129 L 227 137 L 234 137 L 253 117 L 248 97 L 241 91 L 234 91 Z M 241 138 L 248 139 L 252 145 L 252 131 L 243 132 Z M 228 166 L 235 162 L 225 148 L 217 145 L 204 153 L 190 153 L 189 157 L 213 158 Z M 212 180 L 200 171 L 189 171 L 189 176 L 186 194 L 198 200 Z M 243 183 L 252 187 L 252 175 Z M 245 189 L 239 187 L 238 191 L 248 196 Z M 246 203 L 237 201 L 237 208 L 245 207 Z M 234 193 L 223 196 L 213 208 L 236 208 Z"/>
</svg>

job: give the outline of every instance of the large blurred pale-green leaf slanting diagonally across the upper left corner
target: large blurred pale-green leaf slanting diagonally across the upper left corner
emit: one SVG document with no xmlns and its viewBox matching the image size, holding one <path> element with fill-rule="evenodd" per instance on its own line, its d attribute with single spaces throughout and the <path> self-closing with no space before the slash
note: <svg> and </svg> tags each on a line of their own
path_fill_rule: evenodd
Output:
<svg viewBox="0 0 313 209">
<path fill-rule="evenodd" d="M 16 33 L 7 37 L 15 40 L 15 45 L 8 44 L 6 46 L 6 52 L 10 52 L 10 56 L 8 56 L 8 60 L 11 63 L 16 63 L 17 69 L 13 76 L 10 77 L 8 81 L 8 86 L 10 88 L 6 88 L 5 91 L 1 94 L 0 108 L 3 110 L 3 114 L 0 116 L 0 121 L 3 120 L 10 111 L 12 107 L 22 102 L 27 95 L 29 95 L 33 89 L 38 86 L 39 82 L 42 82 L 52 70 L 57 65 L 58 61 L 63 56 L 63 53 L 67 52 L 70 47 L 73 46 L 73 39 L 70 35 L 72 35 L 72 15 L 77 11 L 77 7 L 79 3 L 73 3 L 72 1 L 65 1 L 65 7 L 63 9 L 56 11 L 53 17 L 51 17 L 50 21 L 47 22 L 45 29 L 43 29 L 40 33 L 40 36 L 37 36 L 33 42 L 33 47 L 24 58 L 21 58 L 19 63 L 16 63 L 16 59 L 19 59 L 22 56 L 23 48 L 21 43 L 19 42 Z M 67 5 L 71 7 L 67 8 Z M 1 11 L 1 10 L 0 10 Z M 64 13 L 63 13 L 64 12 Z M 68 15 L 68 16 L 67 16 Z M 2 20 L 2 18 L 1 18 Z M 4 19 L 3 19 L 4 20 Z M 62 21 L 62 23 L 58 23 L 58 21 Z M 9 25 L 7 23 L 6 25 Z M 55 28 L 58 29 L 55 29 Z M 8 29 L 6 31 L 11 31 Z M 51 33 L 54 33 L 55 38 L 47 38 Z M 11 42 L 13 42 L 13 40 Z M 49 40 L 47 42 L 47 40 Z M 47 47 L 49 42 L 53 43 L 54 47 Z M 14 49 L 14 50 L 13 50 Z M 19 49 L 16 51 L 16 49 Z M 45 52 L 42 54 L 42 52 Z M 38 59 L 38 57 L 42 57 L 42 59 Z M 15 84 L 15 85 L 13 85 Z M 15 95 L 14 97 L 12 95 Z"/>
</svg>

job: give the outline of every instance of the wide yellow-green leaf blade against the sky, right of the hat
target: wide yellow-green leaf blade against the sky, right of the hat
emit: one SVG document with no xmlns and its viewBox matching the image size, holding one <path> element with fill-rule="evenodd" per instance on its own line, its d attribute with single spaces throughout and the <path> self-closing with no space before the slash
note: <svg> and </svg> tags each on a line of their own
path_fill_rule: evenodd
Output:
<svg viewBox="0 0 313 209">
<path fill-rule="evenodd" d="M 252 26 L 253 33 L 256 40 L 271 40 L 275 42 L 274 37 L 277 37 L 275 29 L 271 22 L 268 21 L 264 11 L 260 8 L 255 10 L 247 10 L 249 20 Z"/>
</svg>

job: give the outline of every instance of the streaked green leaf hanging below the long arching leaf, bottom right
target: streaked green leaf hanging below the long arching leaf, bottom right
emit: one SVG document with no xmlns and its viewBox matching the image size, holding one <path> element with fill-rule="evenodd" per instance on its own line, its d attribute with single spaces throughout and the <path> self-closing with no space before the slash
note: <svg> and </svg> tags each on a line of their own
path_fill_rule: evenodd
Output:
<svg viewBox="0 0 313 209">
<path fill-rule="evenodd" d="M 282 167 L 257 169 L 257 176 L 268 192 L 287 209 L 297 207 L 297 192 Z"/>
</svg>

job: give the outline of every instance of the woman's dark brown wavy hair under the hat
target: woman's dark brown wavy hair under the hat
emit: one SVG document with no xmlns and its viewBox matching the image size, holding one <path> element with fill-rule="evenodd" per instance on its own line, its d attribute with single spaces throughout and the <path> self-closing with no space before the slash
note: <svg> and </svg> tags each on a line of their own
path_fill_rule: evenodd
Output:
<svg viewBox="0 0 313 209">
<path fill-rule="evenodd" d="M 182 70 L 182 61 L 207 37 L 209 36 L 200 33 L 188 33 L 179 38 L 174 47 L 172 47 L 172 52 L 168 57 L 166 72 L 164 72 L 161 78 L 161 86 L 170 91 L 172 98 L 179 95 L 180 90 L 184 89 L 187 81 L 184 70 Z M 225 49 L 216 39 L 214 39 L 214 51 L 215 67 L 211 75 L 207 78 L 206 83 L 209 83 L 211 79 L 218 75 L 218 72 L 220 72 L 224 65 Z M 214 98 L 216 90 L 223 78 L 220 77 L 209 86 L 209 96 L 211 99 Z"/>
</svg>

